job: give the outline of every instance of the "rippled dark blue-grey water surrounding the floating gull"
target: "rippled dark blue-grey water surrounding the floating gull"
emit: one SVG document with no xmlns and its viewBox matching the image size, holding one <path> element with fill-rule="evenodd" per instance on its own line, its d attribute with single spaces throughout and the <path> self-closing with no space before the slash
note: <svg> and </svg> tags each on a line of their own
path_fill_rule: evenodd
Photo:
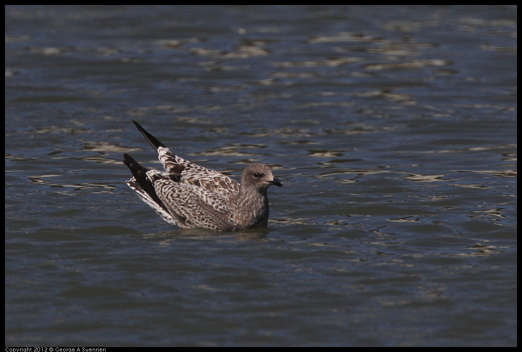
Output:
<svg viewBox="0 0 522 352">
<path fill-rule="evenodd" d="M 7 6 L 6 346 L 516 346 L 517 8 Z M 267 229 L 179 230 L 137 120 Z"/>
</svg>

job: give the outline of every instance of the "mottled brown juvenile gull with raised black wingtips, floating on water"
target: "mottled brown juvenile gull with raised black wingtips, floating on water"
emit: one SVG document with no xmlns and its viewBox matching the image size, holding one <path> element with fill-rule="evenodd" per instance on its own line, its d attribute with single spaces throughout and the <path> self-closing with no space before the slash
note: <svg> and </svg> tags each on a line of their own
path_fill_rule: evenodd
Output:
<svg viewBox="0 0 522 352">
<path fill-rule="evenodd" d="M 133 174 L 127 184 L 163 220 L 180 228 L 206 227 L 217 231 L 266 227 L 266 191 L 272 184 L 283 185 L 268 166 L 255 163 L 246 167 L 239 184 L 221 172 L 174 155 L 133 122 L 158 152 L 166 172 L 147 169 L 125 153 L 123 163 Z"/>
</svg>

